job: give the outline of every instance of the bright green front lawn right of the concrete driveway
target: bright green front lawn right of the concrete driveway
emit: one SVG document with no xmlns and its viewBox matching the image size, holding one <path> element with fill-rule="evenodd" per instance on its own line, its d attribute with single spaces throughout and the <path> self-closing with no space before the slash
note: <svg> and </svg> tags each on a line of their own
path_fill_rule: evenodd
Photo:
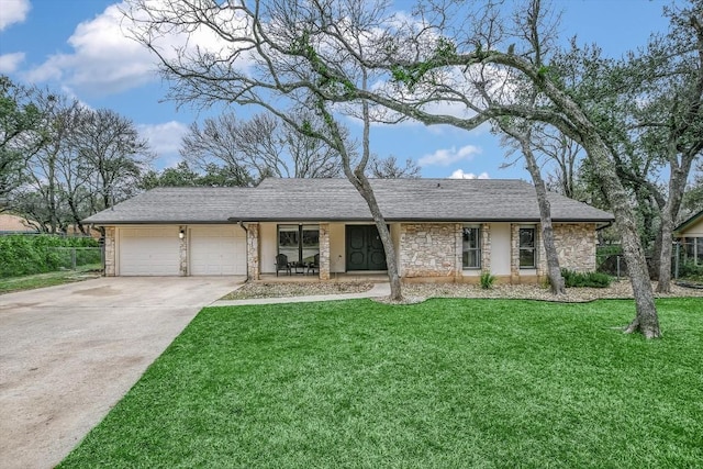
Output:
<svg viewBox="0 0 703 469">
<path fill-rule="evenodd" d="M 203 310 L 60 467 L 685 468 L 703 299 Z"/>
</svg>

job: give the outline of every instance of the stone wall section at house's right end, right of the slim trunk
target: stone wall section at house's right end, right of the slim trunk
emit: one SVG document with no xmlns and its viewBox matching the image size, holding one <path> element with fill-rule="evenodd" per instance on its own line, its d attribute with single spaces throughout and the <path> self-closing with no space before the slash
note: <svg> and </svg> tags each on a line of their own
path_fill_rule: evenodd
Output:
<svg viewBox="0 0 703 469">
<path fill-rule="evenodd" d="M 554 237 L 562 269 L 595 270 L 594 223 L 555 223 Z"/>
</svg>

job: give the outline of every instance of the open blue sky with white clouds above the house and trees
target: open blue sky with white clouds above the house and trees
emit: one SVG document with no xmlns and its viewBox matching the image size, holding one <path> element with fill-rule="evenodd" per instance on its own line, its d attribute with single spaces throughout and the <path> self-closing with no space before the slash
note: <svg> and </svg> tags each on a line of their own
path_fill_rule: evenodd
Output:
<svg viewBox="0 0 703 469">
<path fill-rule="evenodd" d="M 403 1 L 395 2 L 402 5 Z M 410 2 L 409 8 L 410 8 Z M 644 46 L 652 32 L 665 32 L 661 0 L 556 0 L 562 9 L 561 34 L 579 43 L 598 43 L 620 57 Z M 119 2 L 110 0 L 0 0 L 0 74 L 15 82 L 48 87 L 92 109 L 108 108 L 131 119 L 148 138 L 158 159 L 174 166 L 180 137 L 192 122 L 221 112 L 177 110 L 161 102 L 167 83 L 153 71 L 154 60 L 120 35 Z M 246 110 L 234 109 L 242 118 Z M 379 156 L 412 158 L 423 177 L 523 178 L 528 174 L 506 161 L 488 130 L 472 132 L 420 125 L 375 127 L 371 146 Z"/>
</svg>

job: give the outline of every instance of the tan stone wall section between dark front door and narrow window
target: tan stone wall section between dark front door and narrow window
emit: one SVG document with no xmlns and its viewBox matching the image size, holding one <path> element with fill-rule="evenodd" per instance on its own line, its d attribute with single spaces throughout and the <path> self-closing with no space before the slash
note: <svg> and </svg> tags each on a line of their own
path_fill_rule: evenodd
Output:
<svg viewBox="0 0 703 469">
<path fill-rule="evenodd" d="M 400 226 L 400 271 L 404 278 L 461 275 L 461 225 L 458 223 L 403 223 Z M 458 242 L 457 242 L 458 237 Z M 458 261 L 457 261 L 458 260 Z"/>
</svg>

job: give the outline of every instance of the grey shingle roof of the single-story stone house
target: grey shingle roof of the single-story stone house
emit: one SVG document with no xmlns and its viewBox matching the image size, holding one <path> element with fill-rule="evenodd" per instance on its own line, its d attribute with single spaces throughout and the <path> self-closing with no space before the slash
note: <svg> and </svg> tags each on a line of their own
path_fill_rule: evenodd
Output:
<svg viewBox="0 0 703 469">
<path fill-rule="evenodd" d="M 537 222 L 532 185 L 507 179 L 372 179 L 390 221 Z M 606 223 L 613 216 L 549 193 L 556 222 Z M 257 188 L 158 188 L 97 213 L 85 223 L 227 223 L 227 221 L 370 221 L 346 179 L 274 179 Z"/>
</svg>

